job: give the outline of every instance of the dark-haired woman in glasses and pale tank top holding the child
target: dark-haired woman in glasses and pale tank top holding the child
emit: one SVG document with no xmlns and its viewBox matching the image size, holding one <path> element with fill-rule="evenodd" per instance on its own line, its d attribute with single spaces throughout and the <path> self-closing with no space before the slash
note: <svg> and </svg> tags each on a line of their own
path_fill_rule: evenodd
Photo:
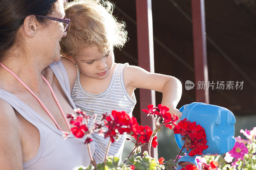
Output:
<svg viewBox="0 0 256 170">
<path fill-rule="evenodd" d="M 1 169 L 72 169 L 90 163 L 84 138 L 62 137 L 70 130 L 65 117 L 75 108 L 70 89 L 76 79 L 73 63 L 60 58 L 68 25 L 63 4 L 0 2 Z"/>
</svg>

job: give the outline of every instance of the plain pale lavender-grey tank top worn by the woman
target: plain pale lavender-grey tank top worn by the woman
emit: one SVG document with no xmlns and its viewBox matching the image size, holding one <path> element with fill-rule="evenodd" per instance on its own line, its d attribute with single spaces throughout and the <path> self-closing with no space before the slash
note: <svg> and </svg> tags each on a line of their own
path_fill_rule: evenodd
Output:
<svg viewBox="0 0 256 170">
<path fill-rule="evenodd" d="M 70 96 L 68 74 L 61 61 L 50 65 L 57 77 L 63 92 L 68 97 L 71 107 L 76 108 Z M 40 134 L 40 145 L 36 155 L 28 162 L 23 163 L 23 168 L 29 169 L 73 169 L 77 166 L 88 166 L 91 159 L 87 145 L 84 144 L 86 137 L 76 138 L 73 134 L 64 140 L 62 132 L 52 126 L 42 116 L 23 103 L 18 97 L 0 89 L 0 98 L 20 113 L 24 119 L 33 124 Z M 94 141 L 90 143 L 94 154 Z"/>
</svg>

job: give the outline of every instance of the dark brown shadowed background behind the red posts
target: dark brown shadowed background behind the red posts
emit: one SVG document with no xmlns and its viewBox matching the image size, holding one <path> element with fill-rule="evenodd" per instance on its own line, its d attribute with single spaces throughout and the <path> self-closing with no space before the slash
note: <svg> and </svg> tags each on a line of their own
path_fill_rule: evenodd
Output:
<svg viewBox="0 0 256 170">
<path fill-rule="evenodd" d="M 115 60 L 138 65 L 135 0 L 112 2 L 116 5 L 114 15 L 125 21 L 130 38 L 121 51 L 115 50 Z M 209 96 L 210 104 L 226 107 L 236 115 L 248 115 L 256 112 L 256 17 L 246 3 L 238 2 L 205 1 L 206 33 L 208 40 L 211 40 L 207 41 L 209 81 L 244 81 L 242 90 L 209 89 Z M 175 7 L 173 3 L 177 3 L 179 7 Z M 187 18 L 184 13 L 188 15 Z M 175 76 L 182 82 L 183 93 L 177 107 L 180 108 L 196 101 L 196 88 L 189 91 L 184 88 L 186 80 L 195 82 L 192 24 L 189 19 L 191 2 L 152 0 L 152 15 L 155 72 Z M 138 91 L 135 91 L 137 101 Z M 156 104 L 161 103 L 161 100 L 162 94 L 156 92 Z M 133 114 L 138 117 L 139 102 Z"/>
</svg>

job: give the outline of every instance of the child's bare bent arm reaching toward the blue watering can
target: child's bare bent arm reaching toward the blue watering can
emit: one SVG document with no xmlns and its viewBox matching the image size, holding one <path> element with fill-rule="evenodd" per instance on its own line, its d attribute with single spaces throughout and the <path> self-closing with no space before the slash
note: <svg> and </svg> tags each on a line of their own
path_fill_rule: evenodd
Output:
<svg viewBox="0 0 256 170">
<path fill-rule="evenodd" d="M 150 73 L 137 66 L 124 67 L 124 83 L 128 94 L 136 88 L 150 89 L 163 93 L 162 104 L 170 108 L 179 118 L 181 112 L 176 109 L 182 93 L 181 82 L 172 76 Z"/>
</svg>

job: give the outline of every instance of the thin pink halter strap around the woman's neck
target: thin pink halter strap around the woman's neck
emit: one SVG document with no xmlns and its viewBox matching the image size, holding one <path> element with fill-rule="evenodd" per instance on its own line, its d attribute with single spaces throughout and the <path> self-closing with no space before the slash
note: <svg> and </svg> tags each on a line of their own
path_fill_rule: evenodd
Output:
<svg viewBox="0 0 256 170">
<path fill-rule="evenodd" d="M 45 111 L 48 113 L 48 115 L 52 118 L 52 120 L 54 121 L 54 123 L 56 124 L 56 126 L 58 127 L 58 129 L 59 129 L 60 131 L 62 131 L 62 129 L 60 128 L 60 126 L 58 125 L 58 123 L 56 122 L 56 120 L 54 119 L 54 117 L 52 116 L 51 112 L 46 108 L 46 106 L 43 104 L 43 102 L 41 102 L 41 100 L 36 96 L 36 94 L 35 94 L 32 90 L 30 90 L 29 87 L 28 87 L 22 80 L 20 80 L 20 78 L 19 78 L 15 73 L 13 73 L 10 69 L 8 69 L 6 66 L 4 66 L 1 62 L 0 62 L 0 65 L 1 65 L 5 70 L 7 70 L 9 73 L 11 73 L 18 81 L 20 81 L 20 83 L 21 83 L 26 89 L 28 89 L 28 91 L 29 91 L 34 97 L 36 97 L 36 99 L 38 100 L 38 102 L 43 106 L 44 110 L 45 110 Z M 42 74 L 41 74 L 41 75 L 42 75 Z M 63 117 L 64 117 L 64 119 L 65 119 L 65 121 L 66 121 L 66 123 L 67 123 L 67 125 L 68 125 L 69 131 L 71 132 L 71 130 L 70 130 L 71 128 L 70 128 L 70 125 L 69 125 L 68 120 L 67 120 L 67 118 L 66 118 L 66 115 L 65 115 L 65 113 L 63 112 L 63 109 L 61 108 L 60 103 L 59 103 L 59 101 L 58 101 L 56 95 L 54 94 L 51 85 L 50 85 L 49 82 L 44 78 L 43 75 L 42 75 L 42 78 L 44 79 L 44 81 L 45 81 L 45 82 L 47 83 L 47 85 L 49 86 L 49 88 L 50 88 L 50 90 L 51 90 L 51 92 L 52 92 L 52 95 L 53 95 L 53 97 L 54 97 L 56 103 L 58 104 L 58 106 L 59 106 L 59 108 L 60 108 L 60 111 L 61 111 L 61 113 L 62 113 L 62 115 L 63 115 Z"/>
</svg>

